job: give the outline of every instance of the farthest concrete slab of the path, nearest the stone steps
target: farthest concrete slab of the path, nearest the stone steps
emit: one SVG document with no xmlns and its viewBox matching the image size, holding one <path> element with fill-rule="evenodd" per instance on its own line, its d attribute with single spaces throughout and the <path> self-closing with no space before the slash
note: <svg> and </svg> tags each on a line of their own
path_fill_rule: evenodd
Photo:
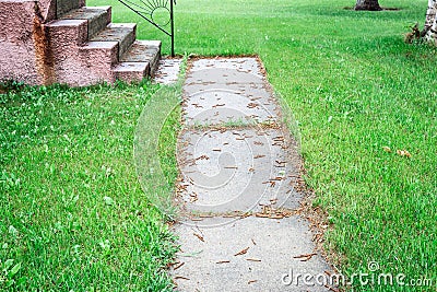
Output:
<svg viewBox="0 0 437 292">
<path fill-rule="evenodd" d="M 277 104 L 253 58 L 194 62 L 187 74 L 184 104 L 187 125 L 275 121 Z M 212 69 L 212 70 L 211 70 Z"/>
</svg>

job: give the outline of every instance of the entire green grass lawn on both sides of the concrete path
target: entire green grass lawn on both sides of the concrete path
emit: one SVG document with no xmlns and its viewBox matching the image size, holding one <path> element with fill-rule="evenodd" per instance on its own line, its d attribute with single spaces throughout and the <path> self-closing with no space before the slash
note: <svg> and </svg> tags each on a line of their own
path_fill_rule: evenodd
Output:
<svg viewBox="0 0 437 292">
<path fill-rule="evenodd" d="M 436 284 L 437 51 L 402 36 L 424 21 L 427 1 L 380 1 L 400 11 L 343 9 L 354 2 L 180 0 L 176 51 L 260 55 L 298 119 L 307 183 L 333 223 L 326 248 L 338 267 L 351 276 L 377 261 L 380 271 Z M 138 22 L 140 38 L 164 39 L 169 52 L 163 34 L 117 1 L 87 4 L 111 4 L 115 21 Z M 135 120 L 155 91 L 0 95 L 0 280 L 44 291 L 168 287 L 160 268 L 173 238 L 137 183 L 131 153 Z"/>
</svg>

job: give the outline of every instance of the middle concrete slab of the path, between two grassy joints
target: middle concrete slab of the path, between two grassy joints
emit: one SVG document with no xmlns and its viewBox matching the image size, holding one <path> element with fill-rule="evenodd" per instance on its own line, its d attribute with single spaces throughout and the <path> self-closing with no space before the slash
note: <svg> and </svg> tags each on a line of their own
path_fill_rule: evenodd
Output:
<svg viewBox="0 0 437 292">
<path fill-rule="evenodd" d="M 182 132 L 178 162 L 190 211 L 259 212 L 262 207 L 298 207 L 293 145 L 279 129 L 189 130 Z"/>
</svg>

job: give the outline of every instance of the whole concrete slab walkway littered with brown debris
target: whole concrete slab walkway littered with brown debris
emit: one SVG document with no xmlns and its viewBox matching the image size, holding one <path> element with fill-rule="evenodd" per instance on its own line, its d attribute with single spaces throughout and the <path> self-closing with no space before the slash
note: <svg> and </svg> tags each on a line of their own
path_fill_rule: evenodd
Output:
<svg viewBox="0 0 437 292">
<path fill-rule="evenodd" d="M 298 213 L 298 145 L 256 58 L 194 60 L 184 85 L 177 291 L 328 291 Z M 298 282 L 309 273 L 312 282 Z"/>
</svg>

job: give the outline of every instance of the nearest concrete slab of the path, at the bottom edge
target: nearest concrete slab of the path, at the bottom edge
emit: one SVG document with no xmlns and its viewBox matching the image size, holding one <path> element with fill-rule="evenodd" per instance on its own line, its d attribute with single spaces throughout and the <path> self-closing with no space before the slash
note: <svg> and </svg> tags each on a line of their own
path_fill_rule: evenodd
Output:
<svg viewBox="0 0 437 292">
<path fill-rule="evenodd" d="M 176 267 L 182 265 L 174 271 L 177 291 L 329 291 L 316 281 L 314 287 L 302 279 L 298 285 L 297 279 L 291 283 L 297 273 L 331 270 L 320 256 L 294 258 L 314 254 L 308 224 L 298 217 L 251 217 L 214 227 L 182 224 L 176 230 L 181 245 Z"/>
</svg>

